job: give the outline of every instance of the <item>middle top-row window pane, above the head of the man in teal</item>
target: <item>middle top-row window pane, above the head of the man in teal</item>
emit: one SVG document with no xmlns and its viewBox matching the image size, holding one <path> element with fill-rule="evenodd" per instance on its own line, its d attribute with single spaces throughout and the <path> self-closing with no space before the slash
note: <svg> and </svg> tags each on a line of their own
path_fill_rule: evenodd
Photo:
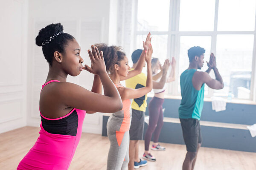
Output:
<svg viewBox="0 0 256 170">
<path fill-rule="evenodd" d="M 215 0 L 180 0 L 180 31 L 213 31 Z"/>
</svg>

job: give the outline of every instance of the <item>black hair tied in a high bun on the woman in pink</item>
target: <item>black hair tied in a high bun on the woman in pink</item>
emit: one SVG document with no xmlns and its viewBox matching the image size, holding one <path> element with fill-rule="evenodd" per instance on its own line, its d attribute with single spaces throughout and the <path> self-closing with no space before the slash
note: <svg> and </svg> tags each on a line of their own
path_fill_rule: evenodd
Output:
<svg viewBox="0 0 256 170">
<path fill-rule="evenodd" d="M 43 47 L 42 50 L 44 57 L 50 65 L 52 65 L 52 57 L 54 52 L 58 51 L 65 54 L 65 47 L 67 46 L 68 42 L 75 39 L 70 34 L 62 33 L 52 39 L 49 43 L 42 45 L 44 41 L 49 40 L 50 37 L 61 31 L 63 31 L 63 26 L 61 23 L 50 24 L 45 28 L 42 28 L 39 31 L 38 36 L 35 38 L 35 44 Z"/>
</svg>

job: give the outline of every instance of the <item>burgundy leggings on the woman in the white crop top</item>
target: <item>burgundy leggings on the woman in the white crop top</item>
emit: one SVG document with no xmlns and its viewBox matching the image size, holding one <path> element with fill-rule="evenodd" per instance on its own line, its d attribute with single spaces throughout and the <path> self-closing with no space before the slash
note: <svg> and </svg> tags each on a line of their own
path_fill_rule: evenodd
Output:
<svg viewBox="0 0 256 170">
<path fill-rule="evenodd" d="M 149 143 L 154 132 L 154 142 L 158 142 L 158 138 L 163 127 L 163 101 L 158 97 L 153 97 L 148 105 L 149 123 L 145 134 L 145 150 L 149 149 Z"/>
</svg>

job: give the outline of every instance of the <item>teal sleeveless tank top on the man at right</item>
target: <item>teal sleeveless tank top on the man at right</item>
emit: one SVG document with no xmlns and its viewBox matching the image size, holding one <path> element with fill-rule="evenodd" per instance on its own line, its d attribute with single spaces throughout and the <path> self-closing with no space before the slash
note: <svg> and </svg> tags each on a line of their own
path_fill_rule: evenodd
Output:
<svg viewBox="0 0 256 170">
<path fill-rule="evenodd" d="M 204 106 L 204 84 L 198 91 L 192 84 L 192 77 L 195 69 L 185 70 L 180 75 L 181 103 L 179 107 L 180 119 L 198 119 L 200 120 Z"/>
</svg>

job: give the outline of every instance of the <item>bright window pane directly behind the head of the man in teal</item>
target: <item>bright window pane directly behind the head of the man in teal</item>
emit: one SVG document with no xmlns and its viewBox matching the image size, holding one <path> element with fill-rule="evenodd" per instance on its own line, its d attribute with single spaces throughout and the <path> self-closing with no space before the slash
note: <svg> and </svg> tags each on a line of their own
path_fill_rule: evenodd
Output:
<svg viewBox="0 0 256 170">
<path fill-rule="evenodd" d="M 180 74 L 189 67 L 188 49 L 193 46 L 200 46 L 205 49 L 204 66 L 201 69 L 206 71 L 208 69 L 206 61 L 209 61 L 211 53 L 211 37 L 209 36 L 181 36 L 180 37 L 180 62 L 179 62 L 179 83 L 178 91 L 180 92 Z M 204 86 L 205 94 L 208 94 L 208 86 Z"/>
</svg>

